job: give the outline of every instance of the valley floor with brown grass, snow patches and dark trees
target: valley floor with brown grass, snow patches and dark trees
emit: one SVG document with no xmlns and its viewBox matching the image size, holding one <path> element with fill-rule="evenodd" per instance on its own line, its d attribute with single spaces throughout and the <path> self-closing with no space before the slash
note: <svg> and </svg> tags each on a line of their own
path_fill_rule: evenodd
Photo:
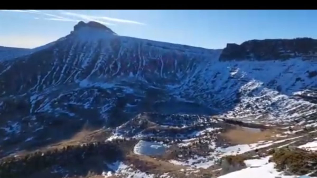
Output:
<svg viewBox="0 0 317 178">
<path fill-rule="evenodd" d="M 209 121 L 204 122 L 206 127 L 190 126 L 180 130 L 149 124 L 151 122 L 149 115 L 142 122 L 140 119 L 142 120 L 143 117 L 131 120 L 130 123 L 123 124 L 116 130 L 84 129 L 74 137 L 59 143 L 33 151 L 16 152 L 1 158 L 1 168 L 6 170 L 9 165 L 9 167 L 22 166 L 20 162 L 32 161 L 32 157 L 42 154 L 49 165 L 40 170 L 34 170 L 35 172 L 29 170 L 29 176 L 23 177 L 231 178 L 261 173 L 262 177 L 292 178 L 298 175 L 293 176 L 287 169 L 278 171 L 275 168 L 275 162 L 269 161 L 272 150 L 298 147 L 312 153 L 316 151 L 317 130 L 315 127 L 307 129 L 308 127 L 305 127 L 307 124 L 304 123 L 292 127 L 265 126 L 210 118 Z M 126 137 L 125 134 L 129 131 L 122 132 L 120 129 L 125 128 L 127 124 L 133 128 L 130 131 L 138 128 L 139 124 L 143 126 L 141 130 L 134 133 L 134 136 Z M 150 144 L 146 145 L 146 149 L 155 150 L 160 148 L 159 145 L 163 145 L 165 150 L 163 153 L 157 152 L 159 154 L 154 155 L 150 154 L 151 151 L 140 152 L 144 149 L 143 145 L 135 147 L 140 140 Z M 108 155 L 108 152 L 104 155 L 103 149 L 109 146 L 114 149 L 111 151 L 117 150 L 113 153 L 109 152 L 112 156 Z M 96 151 L 91 152 L 89 148 L 94 148 Z M 81 158 L 76 158 L 78 151 L 81 153 Z M 57 158 L 49 161 L 52 159 L 52 154 Z M 78 159 L 79 162 L 71 161 L 71 159 Z M 227 165 L 223 161 L 226 159 L 240 161 Z M 3 171 L 0 174 L 13 174 L 15 177 L 20 177 L 22 172 L 11 170 L 10 173 Z M 307 174 L 317 176 L 314 171 Z"/>
</svg>

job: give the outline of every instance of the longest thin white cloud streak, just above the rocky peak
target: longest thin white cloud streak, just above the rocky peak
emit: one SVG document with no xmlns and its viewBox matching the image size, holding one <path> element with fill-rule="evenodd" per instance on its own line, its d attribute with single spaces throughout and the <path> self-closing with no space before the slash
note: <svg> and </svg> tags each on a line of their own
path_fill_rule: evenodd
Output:
<svg viewBox="0 0 317 178">
<path fill-rule="evenodd" d="M 145 25 L 144 23 L 137 22 L 137 21 L 111 18 L 111 17 L 105 17 L 105 16 L 89 16 L 89 15 L 77 14 L 77 13 L 73 13 L 73 12 L 62 12 L 62 14 L 66 15 L 66 16 L 79 17 L 79 18 L 82 18 L 82 19 L 88 20 L 88 21 L 98 22 L 99 21 L 98 19 L 100 19 L 100 20 L 107 20 L 107 21 L 119 22 L 119 23 L 133 23 L 133 24 L 138 24 L 138 25 Z"/>
</svg>

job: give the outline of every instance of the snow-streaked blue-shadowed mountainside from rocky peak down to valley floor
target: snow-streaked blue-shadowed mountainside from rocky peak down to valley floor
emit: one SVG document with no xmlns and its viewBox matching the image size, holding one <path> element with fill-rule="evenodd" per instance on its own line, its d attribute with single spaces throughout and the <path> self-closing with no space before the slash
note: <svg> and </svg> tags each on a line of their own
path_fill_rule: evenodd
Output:
<svg viewBox="0 0 317 178">
<path fill-rule="evenodd" d="M 69 35 L 0 63 L 0 144 L 29 138 L 28 143 L 44 144 L 86 121 L 117 126 L 143 111 L 191 110 L 271 122 L 314 119 L 314 55 L 282 60 L 232 55 L 251 49 L 223 52 L 137 39 L 79 22 Z"/>
</svg>

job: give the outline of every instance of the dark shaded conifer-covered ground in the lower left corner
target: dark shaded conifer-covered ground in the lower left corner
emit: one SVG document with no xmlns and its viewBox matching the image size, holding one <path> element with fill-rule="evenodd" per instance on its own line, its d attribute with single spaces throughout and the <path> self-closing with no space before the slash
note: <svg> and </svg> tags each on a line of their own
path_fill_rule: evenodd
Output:
<svg viewBox="0 0 317 178">
<path fill-rule="evenodd" d="M 16 163 L 11 163 L 9 162 L 9 165 L 16 166 L 17 165 L 17 170 L 22 170 L 17 173 L 8 173 L 10 176 L 19 176 L 20 174 L 31 174 L 30 177 L 26 178 L 42 178 L 42 177 L 47 177 L 47 178 L 59 178 L 61 175 L 51 175 L 51 166 L 52 165 L 61 165 L 63 169 L 67 170 L 69 173 L 69 176 L 76 177 L 86 177 L 86 176 L 95 176 L 95 175 L 101 175 L 103 169 L 105 168 L 104 166 L 104 161 L 110 161 L 113 162 L 114 160 L 121 160 L 124 158 L 123 152 L 125 150 L 131 152 L 133 146 L 135 145 L 136 140 L 113 140 L 112 142 L 107 142 L 107 143 L 97 143 L 94 144 L 94 147 L 90 147 L 93 144 L 90 144 L 89 147 L 83 147 L 80 145 L 77 145 L 77 147 L 68 147 L 66 150 L 65 149 L 60 149 L 56 150 L 55 152 L 48 152 L 44 153 L 43 156 L 45 159 L 39 159 L 38 157 L 42 157 L 41 153 L 37 155 L 28 155 L 27 157 L 18 157 L 14 159 L 14 162 Z M 101 146 L 101 147 L 99 147 Z M 102 147 L 103 146 L 103 147 Z M 113 149 L 113 146 L 116 148 Z M 91 154 L 88 154 L 85 156 L 84 159 L 81 157 L 78 159 L 78 156 L 81 156 L 81 154 L 87 150 L 91 150 L 90 148 L 94 148 Z M 107 150 L 107 148 L 110 148 Z M 111 149 L 112 148 L 112 149 Z M 43 150 L 42 150 L 43 151 Z M 109 152 L 110 151 L 110 152 Z M 113 152 L 112 152 L 113 151 Z M 87 152 L 86 152 L 87 153 Z M 94 154 L 94 155 L 92 155 Z M 36 158 L 37 156 L 37 158 Z M 67 156 L 67 157 L 65 157 Z M 112 159 L 109 159 L 109 158 Z M 25 159 L 26 158 L 26 159 Z M 35 161 L 34 161 L 35 160 Z M 45 162 L 44 160 L 47 160 L 48 162 Z M 74 161 L 77 160 L 77 161 Z M 5 161 L 7 162 L 7 161 Z M 24 162 L 26 163 L 25 165 L 28 165 L 28 168 L 25 168 L 25 165 L 22 167 L 21 163 Z M 32 164 L 33 162 L 36 162 L 37 165 L 43 165 L 42 167 L 33 169 Z M 2 163 L 2 162 L 1 162 Z M 0 163 L 0 165 L 2 165 Z M 8 165 L 8 164 L 6 164 Z M 20 167 L 19 167 L 20 166 Z M 2 167 L 1 167 L 2 168 Z M 3 173 L 4 175 L 8 175 L 6 172 Z M 2 175 L 0 175 L 1 177 Z"/>
</svg>

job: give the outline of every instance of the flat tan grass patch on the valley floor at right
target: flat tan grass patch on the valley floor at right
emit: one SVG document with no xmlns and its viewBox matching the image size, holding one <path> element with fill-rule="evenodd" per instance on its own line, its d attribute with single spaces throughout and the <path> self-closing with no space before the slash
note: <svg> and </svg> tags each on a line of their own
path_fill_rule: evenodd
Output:
<svg viewBox="0 0 317 178">
<path fill-rule="evenodd" d="M 279 132 L 276 129 L 254 132 L 240 126 L 236 126 L 222 133 L 220 137 L 223 137 L 225 140 L 233 144 L 250 144 L 257 143 L 262 140 L 271 140 L 273 138 L 272 136 L 277 133 Z"/>
</svg>

